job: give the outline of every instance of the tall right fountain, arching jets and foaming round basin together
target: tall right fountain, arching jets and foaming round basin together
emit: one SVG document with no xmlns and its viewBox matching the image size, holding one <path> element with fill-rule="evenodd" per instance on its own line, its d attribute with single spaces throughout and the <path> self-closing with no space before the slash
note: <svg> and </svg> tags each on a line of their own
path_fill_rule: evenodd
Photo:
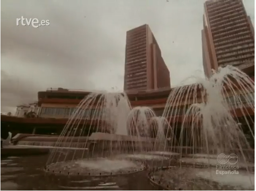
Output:
<svg viewBox="0 0 256 191">
<path fill-rule="evenodd" d="M 174 88 L 163 117 L 178 141 L 165 150 L 179 152 L 180 164 L 154 169 L 150 180 L 170 190 L 253 189 L 250 111 L 254 114 L 254 82 L 232 66 L 213 71 L 211 78 L 197 78 L 193 85 Z"/>
</svg>

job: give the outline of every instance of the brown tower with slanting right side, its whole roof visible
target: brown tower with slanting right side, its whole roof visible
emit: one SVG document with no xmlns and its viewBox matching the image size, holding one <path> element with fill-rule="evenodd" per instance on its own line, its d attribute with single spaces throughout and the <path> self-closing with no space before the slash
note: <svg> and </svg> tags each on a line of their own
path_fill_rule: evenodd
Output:
<svg viewBox="0 0 256 191">
<path fill-rule="evenodd" d="M 170 87 L 170 72 L 148 24 L 127 31 L 124 90 L 165 87 Z"/>
</svg>

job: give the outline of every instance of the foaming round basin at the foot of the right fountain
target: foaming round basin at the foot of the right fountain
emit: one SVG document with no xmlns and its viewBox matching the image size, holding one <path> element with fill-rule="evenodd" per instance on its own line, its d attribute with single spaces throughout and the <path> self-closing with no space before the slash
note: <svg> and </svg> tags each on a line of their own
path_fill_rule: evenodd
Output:
<svg viewBox="0 0 256 191">
<path fill-rule="evenodd" d="M 254 190 L 254 173 L 225 171 L 195 165 L 163 167 L 149 173 L 148 178 L 165 190 Z"/>
</svg>

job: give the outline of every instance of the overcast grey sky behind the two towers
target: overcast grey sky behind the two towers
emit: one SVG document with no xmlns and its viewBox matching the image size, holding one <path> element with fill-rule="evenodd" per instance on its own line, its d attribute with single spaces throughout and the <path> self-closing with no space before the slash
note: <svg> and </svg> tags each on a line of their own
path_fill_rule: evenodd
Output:
<svg viewBox="0 0 256 191">
<path fill-rule="evenodd" d="M 123 89 L 126 31 L 142 24 L 158 41 L 172 86 L 179 85 L 202 71 L 203 2 L 1 0 L 1 113 L 50 87 Z M 244 3 L 254 23 L 254 0 Z M 50 25 L 16 26 L 21 16 Z"/>
</svg>

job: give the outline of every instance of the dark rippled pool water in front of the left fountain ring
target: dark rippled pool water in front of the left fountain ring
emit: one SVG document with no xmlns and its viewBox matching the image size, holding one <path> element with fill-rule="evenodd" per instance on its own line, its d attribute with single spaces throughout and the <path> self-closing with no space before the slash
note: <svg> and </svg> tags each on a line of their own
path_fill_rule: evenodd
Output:
<svg viewBox="0 0 256 191">
<path fill-rule="evenodd" d="M 71 180 L 42 171 L 48 156 L 8 157 L 1 160 L 1 190 L 155 190 L 145 172 L 128 176 Z M 57 178 L 56 178 L 57 177 Z"/>
</svg>

